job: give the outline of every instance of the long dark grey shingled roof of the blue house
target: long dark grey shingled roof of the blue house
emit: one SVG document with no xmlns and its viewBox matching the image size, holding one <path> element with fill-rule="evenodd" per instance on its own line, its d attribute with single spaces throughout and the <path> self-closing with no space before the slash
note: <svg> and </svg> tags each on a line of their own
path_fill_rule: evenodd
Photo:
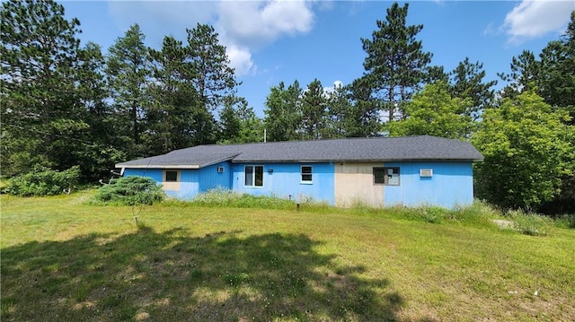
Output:
<svg viewBox="0 0 575 322">
<path fill-rule="evenodd" d="M 116 164 L 118 168 L 199 169 L 221 161 L 482 161 L 467 142 L 435 137 L 370 137 L 260 144 L 198 145 L 150 158 Z"/>
</svg>

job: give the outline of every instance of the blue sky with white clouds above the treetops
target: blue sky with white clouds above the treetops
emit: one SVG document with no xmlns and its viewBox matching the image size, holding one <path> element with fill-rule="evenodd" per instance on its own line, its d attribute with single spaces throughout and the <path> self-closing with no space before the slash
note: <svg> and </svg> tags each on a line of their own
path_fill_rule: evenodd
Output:
<svg viewBox="0 0 575 322">
<path fill-rule="evenodd" d="M 146 45 L 160 49 L 164 36 L 185 42 L 186 29 L 214 26 L 230 65 L 242 84 L 237 93 L 263 117 L 272 86 L 318 79 L 326 91 L 364 73 L 361 39 L 371 39 L 376 21 L 385 21 L 389 1 L 60 1 L 67 18 L 81 22 L 82 43 L 104 53 L 138 23 Z M 404 2 L 399 2 L 403 5 Z M 431 65 L 446 71 L 469 57 L 481 62 L 485 81 L 509 73 L 511 58 L 523 50 L 538 55 L 559 39 L 575 0 L 415 1 L 407 23 L 422 24 L 417 39 L 433 54 Z M 497 85 L 501 88 L 503 83 Z"/>
</svg>

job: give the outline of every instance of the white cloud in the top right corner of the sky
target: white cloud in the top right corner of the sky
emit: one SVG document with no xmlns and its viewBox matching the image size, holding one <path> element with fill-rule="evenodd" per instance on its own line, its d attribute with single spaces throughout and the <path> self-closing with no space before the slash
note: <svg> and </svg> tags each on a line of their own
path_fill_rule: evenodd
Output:
<svg viewBox="0 0 575 322">
<path fill-rule="evenodd" d="M 502 29 L 512 43 L 535 39 L 548 32 L 562 30 L 573 10 L 573 1 L 523 0 L 507 14 Z"/>
</svg>

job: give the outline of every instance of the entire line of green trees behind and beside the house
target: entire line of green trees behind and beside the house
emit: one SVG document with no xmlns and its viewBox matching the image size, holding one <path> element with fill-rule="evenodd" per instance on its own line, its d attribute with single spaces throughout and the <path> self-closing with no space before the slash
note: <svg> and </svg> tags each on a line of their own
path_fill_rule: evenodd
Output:
<svg viewBox="0 0 575 322">
<path fill-rule="evenodd" d="M 106 54 L 80 46 L 80 22 L 53 1 L 2 4 L 2 176 L 35 165 L 79 166 L 85 181 L 118 161 L 198 144 L 437 135 L 472 142 L 476 193 L 495 205 L 552 212 L 575 207 L 575 12 L 541 53 L 510 62 L 495 91 L 481 62 L 432 65 L 392 4 L 361 40 L 364 73 L 325 91 L 315 79 L 270 88 L 264 117 L 237 95 L 234 69 L 212 26 L 148 48 L 137 24 Z M 571 207 L 571 208 L 570 208 Z"/>
</svg>

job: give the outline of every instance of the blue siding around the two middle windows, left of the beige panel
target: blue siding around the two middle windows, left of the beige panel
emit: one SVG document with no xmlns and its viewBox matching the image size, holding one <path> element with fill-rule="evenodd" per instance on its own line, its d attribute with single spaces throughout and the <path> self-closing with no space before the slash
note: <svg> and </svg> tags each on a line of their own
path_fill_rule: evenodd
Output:
<svg viewBox="0 0 575 322">
<path fill-rule="evenodd" d="M 244 167 L 263 166 L 263 187 L 244 186 Z M 301 181 L 301 167 L 312 166 L 312 183 Z M 270 172 L 270 170 L 273 170 Z M 232 165 L 232 189 L 255 196 L 278 196 L 295 200 L 311 197 L 334 205 L 333 163 L 237 163 Z"/>
</svg>

